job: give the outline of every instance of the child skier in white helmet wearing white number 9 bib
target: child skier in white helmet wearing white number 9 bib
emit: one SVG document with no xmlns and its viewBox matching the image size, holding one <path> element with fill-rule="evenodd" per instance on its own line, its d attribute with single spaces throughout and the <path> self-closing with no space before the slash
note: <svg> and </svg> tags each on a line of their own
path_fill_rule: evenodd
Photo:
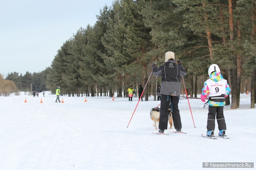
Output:
<svg viewBox="0 0 256 170">
<path fill-rule="evenodd" d="M 212 64 L 208 69 L 209 79 L 204 82 L 202 89 L 201 100 L 209 99 L 205 105 L 209 104 L 209 113 L 207 119 L 206 136 L 214 137 L 215 116 L 218 122 L 219 136 L 226 137 L 225 130 L 226 122 L 223 115 L 223 108 L 225 106 L 225 97 L 228 97 L 231 89 L 220 74 L 220 68 L 217 64 Z M 217 114 L 216 114 L 217 113 Z"/>
</svg>

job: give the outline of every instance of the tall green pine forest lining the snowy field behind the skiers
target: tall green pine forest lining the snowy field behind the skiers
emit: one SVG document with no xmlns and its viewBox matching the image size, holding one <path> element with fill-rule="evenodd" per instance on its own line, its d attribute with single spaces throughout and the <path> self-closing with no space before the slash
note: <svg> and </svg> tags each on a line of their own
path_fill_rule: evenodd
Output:
<svg viewBox="0 0 256 170">
<path fill-rule="evenodd" d="M 99 11 L 96 23 L 66 40 L 50 67 L 39 73 L 8 73 L 13 91 L 55 92 L 67 96 L 127 97 L 143 88 L 152 64 L 164 64 L 175 53 L 187 71 L 191 97 L 201 94 L 211 64 L 228 80 L 226 105 L 239 107 L 240 93 L 251 92 L 256 103 L 256 5 L 252 0 L 116 0 Z M 46 49 L 47 50 L 47 49 Z M 10 83 L 10 82 L 9 82 Z M 14 86 L 15 86 L 14 85 Z M 151 76 L 144 97 L 155 96 L 161 78 Z M 13 85 L 12 85 L 13 86 Z M 181 82 L 181 95 L 186 95 Z M 1 90 L 1 88 L 0 88 Z M 231 103 L 230 103 L 231 99 Z"/>
</svg>

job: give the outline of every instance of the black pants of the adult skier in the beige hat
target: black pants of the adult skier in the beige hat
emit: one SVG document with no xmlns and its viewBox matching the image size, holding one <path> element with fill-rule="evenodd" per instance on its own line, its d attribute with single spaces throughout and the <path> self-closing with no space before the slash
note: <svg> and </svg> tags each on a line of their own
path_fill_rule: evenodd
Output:
<svg viewBox="0 0 256 170">
<path fill-rule="evenodd" d="M 170 96 L 161 94 L 161 107 L 159 118 L 159 129 L 167 129 L 168 127 L 168 115 L 169 105 L 172 108 L 172 119 L 175 129 L 181 129 L 180 110 L 178 107 L 180 98 L 178 96 Z"/>
</svg>

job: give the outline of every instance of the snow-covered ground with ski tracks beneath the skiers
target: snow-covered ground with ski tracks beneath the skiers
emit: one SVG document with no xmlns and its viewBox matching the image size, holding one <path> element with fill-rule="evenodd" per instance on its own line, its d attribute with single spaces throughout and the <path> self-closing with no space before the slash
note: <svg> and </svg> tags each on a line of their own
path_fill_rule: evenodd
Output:
<svg viewBox="0 0 256 170">
<path fill-rule="evenodd" d="M 160 102 L 138 98 L 0 96 L 0 169 L 203 169 L 203 162 L 254 162 L 256 110 L 250 95 L 241 94 L 240 108 L 225 106 L 226 134 L 230 139 L 201 137 L 206 132 L 208 106 L 190 99 L 192 121 L 185 98 L 179 109 L 182 131 L 155 135 L 149 112 Z M 25 97 L 27 103 L 24 103 Z M 198 95 L 199 97 L 199 95 Z M 43 103 L 40 103 L 43 98 Z M 173 128 L 172 131 L 175 129 Z M 218 133 L 216 122 L 215 133 Z"/>
</svg>

